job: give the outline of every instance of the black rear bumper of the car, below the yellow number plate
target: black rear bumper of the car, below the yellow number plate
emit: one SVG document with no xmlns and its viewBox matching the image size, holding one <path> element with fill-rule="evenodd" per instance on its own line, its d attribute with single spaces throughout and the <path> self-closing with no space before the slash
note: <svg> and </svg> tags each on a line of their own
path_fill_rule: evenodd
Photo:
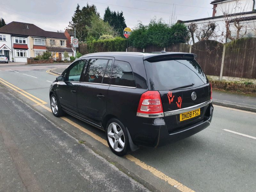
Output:
<svg viewBox="0 0 256 192">
<path fill-rule="evenodd" d="M 132 138 L 132 140 L 135 145 L 160 147 L 168 143 L 173 143 L 178 140 L 185 139 L 202 131 L 211 124 L 213 115 L 212 103 L 210 103 L 209 107 L 210 116 L 200 122 L 197 122 L 196 124 L 187 126 L 169 134 L 168 129 L 164 123 L 164 119 L 159 119 L 159 123 L 161 124 L 143 124 L 142 127 L 140 127 L 140 132 L 138 132 L 135 138 Z"/>
</svg>

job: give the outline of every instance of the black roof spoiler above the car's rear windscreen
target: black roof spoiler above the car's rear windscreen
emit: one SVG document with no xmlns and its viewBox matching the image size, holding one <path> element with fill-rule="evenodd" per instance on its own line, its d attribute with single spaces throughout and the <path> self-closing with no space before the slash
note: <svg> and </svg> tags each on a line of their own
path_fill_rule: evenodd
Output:
<svg viewBox="0 0 256 192">
<path fill-rule="evenodd" d="M 187 58 L 195 59 L 197 57 L 194 53 L 182 53 L 182 52 L 165 52 L 147 55 L 143 57 L 143 60 L 162 60 L 162 59 L 173 59 L 173 58 Z"/>
</svg>

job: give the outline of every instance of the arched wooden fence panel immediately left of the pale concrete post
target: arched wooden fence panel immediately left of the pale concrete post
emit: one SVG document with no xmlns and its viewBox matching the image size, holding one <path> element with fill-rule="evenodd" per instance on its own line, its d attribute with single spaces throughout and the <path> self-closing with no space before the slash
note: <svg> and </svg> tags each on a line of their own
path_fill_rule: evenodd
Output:
<svg viewBox="0 0 256 192">
<path fill-rule="evenodd" d="M 223 44 L 218 41 L 205 40 L 192 45 L 191 53 L 197 55 L 196 60 L 206 75 L 220 76 Z"/>
</svg>

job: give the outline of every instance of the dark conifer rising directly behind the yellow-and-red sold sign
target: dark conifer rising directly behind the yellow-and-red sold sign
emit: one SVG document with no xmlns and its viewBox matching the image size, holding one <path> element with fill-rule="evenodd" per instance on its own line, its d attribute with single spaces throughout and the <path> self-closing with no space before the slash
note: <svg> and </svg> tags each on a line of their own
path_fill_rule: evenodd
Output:
<svg viewBox="0 0 256 192">
<path fill-rule="evenodd" d="M 123 36 L 123 30 L 126 28 L 125 19 L 123 12 L 112 12 L 109 7 L 106 8 L 103 17 L 105 22 L 108 22 L 111 27 L 113 27 L 120 36 Z"/>
</svg>

